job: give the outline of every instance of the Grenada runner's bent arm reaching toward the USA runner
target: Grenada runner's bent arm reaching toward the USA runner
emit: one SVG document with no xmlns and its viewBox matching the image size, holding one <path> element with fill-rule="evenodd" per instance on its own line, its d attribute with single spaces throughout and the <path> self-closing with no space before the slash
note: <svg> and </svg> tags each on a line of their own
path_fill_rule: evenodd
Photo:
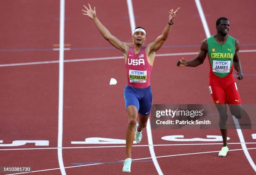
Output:
<svg viewBox="0 0 256 175">
<path fill-rule="evenodd" d="M 184 60 L 184 58 L 182 58 L 182 60 L 179 60 L 177 62 L 177 66 L 197 67 L 204 62 L 207 52 L 208 52 L 208 44 L 207 44 L 207 40 L 204 40 L 201 44 L 200 52 L 194 60 L 186 61 Z"/>
</svg>

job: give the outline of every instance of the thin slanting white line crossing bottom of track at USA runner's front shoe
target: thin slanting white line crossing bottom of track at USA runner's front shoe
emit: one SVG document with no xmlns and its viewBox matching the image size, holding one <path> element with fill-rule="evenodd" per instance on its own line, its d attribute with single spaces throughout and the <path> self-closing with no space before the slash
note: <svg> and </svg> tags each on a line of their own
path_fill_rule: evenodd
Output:
<svg viewBox="0 0 256 175">
<path fill-rule="evenodd" d="M 256 148 L 247 148 L 247 150 L 255 150 Z M 240 151 L 243 149 L 234 149 L 229 151 Z M 164 155 L 164 156 L 158 156 L 156 158 L 167 158 L 167 157 L 174 157 L 174 156 L 182 156 L 182 155 L 195 155 L 195 154 L 205 154 L 205 153 L 218 153 L 220 151 L 208 151 L 208 152 L 199 152 L 199 153 L 187 153 L 187 154 L 176 154 L 176 155 Z M 152 158 L 138 158 L 138 159 L 132 159 L 132 160 L 145 160 L 145 159 L 152 159 Z M 119 160 L 118 162 L 123 162 L 123 160 Z M 100 165 L 104 163 L 94 163 L 94 164 L 88 164 L 88 165 L 77 165 L 77 166 L 70 166 L 65 168 L 77 168 L 82 166 L 90 166 L 90 165 Z M 33 173 L 33 172 L 39 172 L 39 171 L 49 171 L 49 170 L 59 170 L 59 168 L 53 168 L 53 169 L 46 169 L 46 170 L 38 170 L 38 171 L 32 171 L 32 172 L 26 172 L 26 173 Z M 17 175 L 17 174 L 24 174 L 24 173 L 16 173 L 16 174 L 8 174 L 8 175 Z"/>
</svg>

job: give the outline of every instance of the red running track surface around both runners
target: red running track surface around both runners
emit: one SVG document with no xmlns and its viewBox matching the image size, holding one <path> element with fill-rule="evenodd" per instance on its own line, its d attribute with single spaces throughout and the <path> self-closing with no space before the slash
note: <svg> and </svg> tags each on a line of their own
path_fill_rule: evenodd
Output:
<svg viewBox="0 0 256 175">
<path fill-rule="evenodd" d="M 80 9 L 87 2 L 66 0 L 65 3 L 65 44 L 71 48 L 65 51 L 65 60 L 122 55 L 102 38 L 92 20 L 81 15 Z M 125 1 L 104 3 L 95 0 L 90 3 L 96 7 L 98 18 L 110 32 L 122 41 L 131 42 Z M 255 49 L 255 24 L 251 22 L 255 16 L 253 0 L 246 3 L 201 0 L 201 3 L 212 35 L 215 33 L 215 20 L 226 16 L 230 19 L 230 35 L 240 41 L 241 50 Z M 136 25 L 147 30 L 146 41 L 152 42 L 164 29 L 168 17 L 166 12 L 172 7 L 181 9 L 168 40 L 158 54 L 197 52 L 198 45 L 206 36 L 194 1 L 133 1 Z M 246 10 L 237 13 L 241 9 Z M 1 65 L 59 59 L 58 51 L 51 50 L 59 42 L 59 2 L 6 1 L 0 10 L 3 14 L 10 14 L 0 15 L 4 22 L 0 29 L 4 34 L 0 36 L 4 41 L 0 43 Z M 156 57 L 151 76 L 154 104 L 212 104 L 207 86 L 208 62 L 197 68 L 182 69 L 175 66 L 181 57 Z M 194 57 L 184 55 L 187 60 Z M 238 89 L 244 104 L 255 104 L 255 52 L 241 52 L 240 57 L 244 73 L 254 76 L 245 76 L 244 80 L 237 82 Z M 0 67 L 0 73 L 3 75 L 0 79 L 3 82 L 0 85 L 0 140 L 3 140 L 1 144 L 9 144 L 0 144 L 0 166 L 29 166 L 33 171 L 44 170 L 33 174 L 61 174 L 57 155 L 59 64 L 5 66 Z M 111 77 L 118 81 L 117 85 L 109 85 Z M 82 142 L 86 138 L 125 139 L 128 121 L 123 100 L 125 83 L 123 59 L 65 63 L 62 153 L 67 174 L 122 173 L 123 165 L 118 161 L 124 160 L 125 144 L 71 142 Z M 220 135 L 219 130 L 154 129 L 151 132 L 154 145 L 159 145 L 154 146 L 154 151 L 156 157 L 160 157 L 157 161 L 164 174 L 255 173 L 241 144 L 232 144 L 240 143 L 236 130 L 228 131 L 231 151 L 226 158 L 218 157 L 222 141 L 161 139 L 167 135 L 206 138 L 206 135 Z M 256 130 L 242 132 L 246 143 L 254 143 L 246 146 L 251 148 L 248 152 L 255 163 L 256 145 L 252 134 Z M 27 143 L 11 146 L 14 140 L 46 140 L 49 145 Z M 202 143 L 215 145 L 199 145 Z M 138 160 L 133 162 L 131 174 L 157 174 L 148 149 L 146 129 L 142 142 L 134 144 L 132 155 Z M 102 164 L 95 165 L 97 163 Z"/>
</svg>

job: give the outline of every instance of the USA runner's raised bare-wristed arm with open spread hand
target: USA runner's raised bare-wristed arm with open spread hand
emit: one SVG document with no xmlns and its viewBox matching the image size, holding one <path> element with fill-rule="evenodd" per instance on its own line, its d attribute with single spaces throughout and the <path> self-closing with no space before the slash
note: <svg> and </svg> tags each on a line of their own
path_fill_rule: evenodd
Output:
<svg viewBox="0 0 256 175">
<path fill-rule="evenodd" d="M 116 47 L 118 50 L 121 50 L 122 52 L 128 52 L 129 48 L 131 47 L 131 45 L 129 45 L 126 42 L 121 42 L 120 40 L 118 40 L 118 38 L 116 38 L 115 36 L 111 35 L 111 33 L 108 31 L 107 28 L 105 28 L 104 25 L 102 25 L 102 23 L 100 23 L 100 20 L 97 18 L 96 16 L 96 8 L 94 7 L 93 10 L 90 6 L 90 4 L 88 4 L 87 8 L 84 5 L 85 10 L 82 10 L 84 13 L 82 13 L 83 15 L 87 15 L 90 19 L 93 20 L 94 24 L 96 25 L 97 29 L 100 31 L 101 35 L 108 40 L 108 42 L 110 42 L 110 44 L 112 44 L 114 47 Z"/>
</svg>

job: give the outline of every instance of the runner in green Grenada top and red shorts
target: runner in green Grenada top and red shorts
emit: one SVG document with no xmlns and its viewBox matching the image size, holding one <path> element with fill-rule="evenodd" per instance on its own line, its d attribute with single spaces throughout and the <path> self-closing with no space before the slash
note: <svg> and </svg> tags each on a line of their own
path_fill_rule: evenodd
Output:
<svg viewBox="0 0 256 175">
<path fill-rule="evenodd" d="M 223 148 L 219 152 L 220 157 L 228 153 L 227 146 L 227 106 L 236 118 L 241 118 L 241 98 L 233 77 L 233 66 L 237 71 L 238 80 L 243 79 L 240 59 L 238 55 L 239 42 L 228 35 L 229 21 L 227 18 L 219 18 L 216 21 L 217 34 L 208 37 L 202 42 L 199 55 L 191 61 L 183 58 L 177 62 L 177 66 L 196 67 L 201 65 L 208 54 L 210 62 L 209 90 L 218 112 L 220 114 L 220 132 L 223 138 Z M 232 64 L 233 63 L 233 64 Z"/>
</svg>

